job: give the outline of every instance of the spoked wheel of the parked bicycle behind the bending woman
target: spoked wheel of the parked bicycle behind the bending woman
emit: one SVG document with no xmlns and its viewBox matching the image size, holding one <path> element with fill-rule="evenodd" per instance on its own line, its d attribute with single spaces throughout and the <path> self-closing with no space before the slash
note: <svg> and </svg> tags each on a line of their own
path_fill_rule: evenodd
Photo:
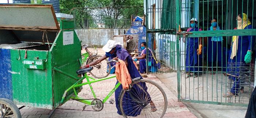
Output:
<svg viewBox="0 0 256 118">
<path fill-rule="evenodd" d="M 90 64 L 90 62 L 93 62 L 94 60 L 97 60 L 97 59 L 98 59 L 97 56 L 91 56 L 88 58 L 86 64 Z M 91 70 L 89 73 L 98 79 L 107 77 L 109 75 L 107 71 L 110 72 L 110 67 L 111 67 L 110 64 L 107 64 L 107 62 L 108 60 L 103 60 L 99 64 L 94 65 L 93 70 Z"/>
</svg>

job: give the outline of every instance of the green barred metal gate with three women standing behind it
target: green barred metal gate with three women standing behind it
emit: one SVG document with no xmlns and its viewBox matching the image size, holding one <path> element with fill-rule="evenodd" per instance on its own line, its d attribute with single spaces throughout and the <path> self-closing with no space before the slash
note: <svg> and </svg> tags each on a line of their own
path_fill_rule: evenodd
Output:
<svg viewBox="0 0 256 118">
<path fill-rule="evenodd" d="M 177 72 L 178 99 L 180 101 L 247 106 L 253 90 L 253 62 L 255 60 L 246 64 L 244 62 L 244 52 L 241 51 L 239 54 L 239 51 L 237 51 L 236 60 L 234 61 L 233 58 L 233 61 L 231 61 L 230 52 L 232 52 L 234 45 L 233 36 L 239 36 L 238 40 L 241 40 L 237 43 L 237 48 L 241 45 L 241 49 L 237 50 L 248 48 L 248 50 L 253 51 L 256 30 L 234 30 L 234 28 L 238 27 L 239 18 L 237 16 L 242 13 L 248 16 L 246 18 L 245 15 L 241 15 L 241 19 L 245 19 L 242 22 L 247 23 L 247 28 L 249 27 L 249 19 L 252 27 L 253 24 L 255 25 L 254 4 L 254 0 L 176 0 L 176 23 L 180 25 L 182 30 L 182 32 L 179 32 L 179 26 L 176 25 L 176 31 L 179 34 L 176 43 L 177 57 L 185 58 L 185 64 L 177 61 L 177 65 L 180 67 Z M 189 26 L 191 18 L 197 18 L 197 26 L 202 31 L 190 30 L 186 33 L 191 27 Z M 217 30 L 214 30 L 214 27 L 211 29 L 211 23 L 215 22 L 215 20 L 212 20 L 214 18 L 217 22 Z M 197 58 L 191 58 L 191 55 L 189 55 L 191 50 L 196 52 L 196 45 L 200 45 L 199 37 L 202 38 L 202 54 L 195 55 Z M 198 42 L 196 42 L 197 38 Z M 182 40 L 180 41 L 180 39 Z M 183 39 L 185 39 L 185 47 L 189 48 L 182 48 Z M 215 39 L 219 40 L 215 41 Z M 191 40 L 192 47 L 196 49 L 190 48 Z M 246 41 L 251 42 L 251 44 L 245 44 Z M 228 51 L 229 49 L 230 51 Z M 247 51 L 247 49 L 245 50 Z M 182 51 L 185 54 L 181 53 Z M 180 58 L 177 58 L 177 60 L 180 60 Z M 194 60 L 192 66 L 190 59 Z M 186 62 L 190 62 L 190 64 L 186 64 Z M 189 73 L 191 73 L 191 76 L 188 76 Z"/>
</svg>

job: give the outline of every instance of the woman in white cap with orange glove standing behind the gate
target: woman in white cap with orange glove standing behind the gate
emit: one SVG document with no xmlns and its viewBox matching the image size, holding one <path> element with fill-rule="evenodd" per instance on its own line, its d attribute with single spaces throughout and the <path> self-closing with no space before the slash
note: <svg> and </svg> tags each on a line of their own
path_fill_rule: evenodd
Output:
<svg viewBox="0 0 256 118">
<path fill-rule="evenodd" d="M 189 31 L 202 31 L 201 28 L 198 28 L 197 19 L 192 18 L 190 20 L 191 27 L 188 28 Z M 199 39 L 199 41 L 198 41 Z M 187 50 L 186 50 L 186 78 L 188 78 L 191 73 L 194 73 L 193 77 L 197 77 L 197 72 L 199 71 L 199 56 L 202 53 L 202 37 L 191 37 L 187 41 Z M 201 69 L 201 67 L 200 67 Z"/>
</svg>

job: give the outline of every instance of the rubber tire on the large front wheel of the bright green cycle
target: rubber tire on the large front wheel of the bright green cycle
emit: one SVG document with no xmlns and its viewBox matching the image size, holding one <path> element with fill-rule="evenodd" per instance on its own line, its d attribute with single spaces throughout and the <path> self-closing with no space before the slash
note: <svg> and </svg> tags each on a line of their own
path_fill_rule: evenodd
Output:
<svg viewBox="0 0 256 118">
<path fill-rule="evenodd" d="M 164 109 L 163 109 L 163 113 L 160 117 L 155 117 L 155 118 L 163 118 L 163 116 L 165 115 L 165 112 L 166 112 L 166 109 L 167 109 L 167 97 L 166 97 L 166 94 L 165 94 L 165 91 L 163 91 L 163 88 L 158 85 L 157 83 L 155 83 L 154 81 L 152 80 L 148 80 L 148 79 L 139 79 L 139 80 L 135 80 L 131 83 L 131 86 L 133 86 L 133 84 L 136 84 L 136 83 L 139 83 L 139 82 L 146 82 L 146 83 L 151 83 L 153 85 L 155 85 L 155 87 L 157 87 L 161 92 L 162 92 L 162 95 L 163 95 L 163 99 L 164 99 Z M 119 107 L 119 110 L 121 111 L 121 114 L 123 114 L 123 117 L 124 118 L 127 118 L 127 116 L 124 114 L 124 111 L 123 111 L 123 107 L 122 106 L 122 103 L 123 103 L 123 96 L 125 94 L 126 90 L 122 90 L 119 97 L 118 97 L 118 107 Z"/>
</svg>

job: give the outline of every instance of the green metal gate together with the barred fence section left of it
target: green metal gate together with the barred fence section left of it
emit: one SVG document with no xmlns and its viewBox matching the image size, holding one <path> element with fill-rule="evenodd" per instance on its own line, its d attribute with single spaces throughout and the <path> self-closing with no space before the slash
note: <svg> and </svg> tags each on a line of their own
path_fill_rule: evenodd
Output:
<svg viewBox="0 0 256 118">
<path fill-rule="evenodd" d="M 179 101 L 248 105 L 255 85 L 255 54 L 251 53 L 256 52 L 255 3 L 256 0 L 146 1 L 147 42 L 156 40 L 158 47 L 154 53 L 157 59 L 162 67 L 172 70 L 155 73 L 177 72 Z M 193 31 L 192 18 L 197 19 L 198 30 L 202 31 Z M 212 21 L 217 27 L 211 28 Z M 238 22 L 245 27 L 238 27 Z M 233 36 L 238 36 L 237 40 Z M 174 49 L 169 42 L 175 45 Z M 202 52 L 197 55 L 200 44 Z M 232 49 L 236 47 L 233 44 L 238 47 L 234 50 L 237 55 L 231 60 Z M 244 61 L 249 56 L 247 53 L 252 55 L 248 64 Z M 175 61 L 172 63 L 164 57 Z"/>
</svg>

